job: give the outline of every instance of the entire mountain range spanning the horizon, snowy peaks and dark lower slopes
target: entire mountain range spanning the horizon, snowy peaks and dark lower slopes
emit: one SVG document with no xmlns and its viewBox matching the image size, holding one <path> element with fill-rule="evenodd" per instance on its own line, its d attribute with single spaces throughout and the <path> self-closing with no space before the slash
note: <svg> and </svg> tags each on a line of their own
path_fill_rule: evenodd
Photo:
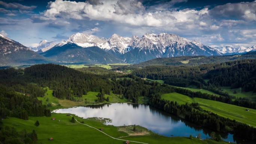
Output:
<svg viewBox="0 0 256 144">
<path fill-rule="evenodd" d="M 113 34 L 109 39 L 76 33 L 56 44 L 43 40 L 33 50 L 0 36 L 0 65 L 54 62 L 70 63 L 139 63 L 154 58 L 176 56 L 220 56 L 256 50 L 231 46 L 211 48 L 176 34 L 144 34 L 142 37 L 122 37 Z"/>
</svg>

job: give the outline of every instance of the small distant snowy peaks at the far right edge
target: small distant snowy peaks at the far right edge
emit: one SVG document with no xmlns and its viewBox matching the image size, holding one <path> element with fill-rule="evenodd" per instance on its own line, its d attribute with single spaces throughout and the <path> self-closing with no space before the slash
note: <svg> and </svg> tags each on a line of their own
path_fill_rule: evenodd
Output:
<svg viewBox="0 0 256 144">
<path fill-rule="evenodd" d="M 231 55 L 231 54 L 239 54 L 239 53 L 255 51 L 256 46 L 252 46 L 248 48 L 244 46 L 239 46 L 239 47 L 224 46 L 224 47 L 215 47 L 214 49 L 219 50 L 219 52 L 222 53 L 223 55 Z"/>
</svg>

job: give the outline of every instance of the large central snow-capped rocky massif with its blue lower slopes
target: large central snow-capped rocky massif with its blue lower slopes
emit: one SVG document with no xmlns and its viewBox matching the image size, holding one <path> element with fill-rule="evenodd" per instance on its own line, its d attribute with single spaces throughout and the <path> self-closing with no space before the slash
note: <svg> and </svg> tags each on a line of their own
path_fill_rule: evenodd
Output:
<svg viewBox="0 0 256 144">
<path fill-rule="evenodd" d="M 67 43 L 74 43 L 83 48 L 97 46 L 127 63 L 138 63 L 159 57 L 221 55 L 219 50 L 202 43 L 167 33 L 144 34 L 141 38 L 137 36 L 122 37 L 113 34 L 109 39 L 76 33 L 57 46 L 64 46 Z"/>
</svg>

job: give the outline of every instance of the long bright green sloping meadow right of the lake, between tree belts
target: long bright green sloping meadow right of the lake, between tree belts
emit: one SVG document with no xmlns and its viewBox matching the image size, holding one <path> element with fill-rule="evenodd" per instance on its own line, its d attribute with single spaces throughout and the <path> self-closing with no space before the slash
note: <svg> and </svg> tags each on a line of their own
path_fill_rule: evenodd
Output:
<svg viewBox="0 0 256 144">
<path fill-rule="evenodd" d="M 178 94 L 176 92 L 163 94 L 161 98 L 170 101 L 177 101 L 179 104 L 186 102 L 198 102 L 204 110 L 212 111 L 219 116 L 235 119 L 239 122 L 247 123 L 248 125 L 256 126 L 256 110 L 250 108 L 239 107 L 236 105 L 226 104 L 223 102 L 212 101 L 202 98 L 190 98 L 189 96 Z M 246 111 L 249 109 L 250 111 Z"/>
</svg>

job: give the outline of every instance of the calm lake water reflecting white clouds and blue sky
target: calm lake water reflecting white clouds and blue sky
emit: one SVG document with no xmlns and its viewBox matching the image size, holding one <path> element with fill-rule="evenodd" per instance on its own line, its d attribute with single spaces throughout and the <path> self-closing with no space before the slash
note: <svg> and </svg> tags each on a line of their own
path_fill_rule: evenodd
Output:
<svg viewBox="0 0 256 144">
<path fill-rule="evenodd" d="M 145 104 L 115 103 L 104 105 L 90 105 L 85 107 L 73 107 L 54 110 L 55 113 L 70 113 L 79 117 L 103 117 L 112 122 L 107 125 L 140 125 L 150 131 L 167 137 L 196 137 L 201 134 L 203 139 L 210 138 L 212 131 L 203 129 L 192 123 L 181 120 L 163 111 L 157 110 Z M 220 134 L 217 133 L 216 134 Z M 232 134 L 220 134 L 225 141 L 233 143 L 249 144 L 233 138 Z"/>
</svg>

